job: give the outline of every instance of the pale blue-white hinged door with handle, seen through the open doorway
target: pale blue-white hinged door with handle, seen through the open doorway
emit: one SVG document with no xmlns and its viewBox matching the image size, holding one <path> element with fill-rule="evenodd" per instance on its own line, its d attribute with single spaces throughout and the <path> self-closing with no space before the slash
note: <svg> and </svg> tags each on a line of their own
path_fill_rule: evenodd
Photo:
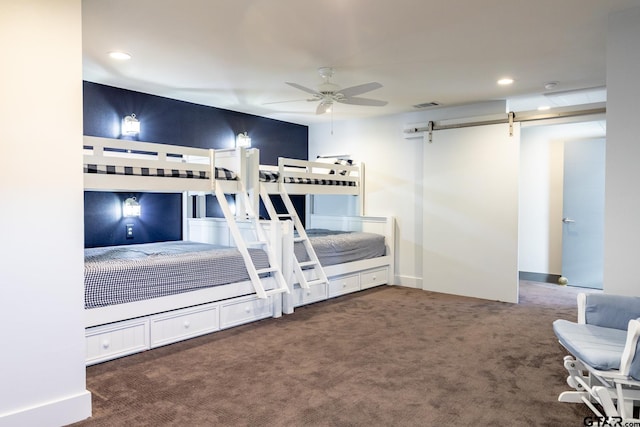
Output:
<svg viewBox="0 0 640 427">
<path fill-rule="evenodd" d="M 569 284 L 602 289 L 605 140 L 564 144 L 562 275 Z"/>
</svg>

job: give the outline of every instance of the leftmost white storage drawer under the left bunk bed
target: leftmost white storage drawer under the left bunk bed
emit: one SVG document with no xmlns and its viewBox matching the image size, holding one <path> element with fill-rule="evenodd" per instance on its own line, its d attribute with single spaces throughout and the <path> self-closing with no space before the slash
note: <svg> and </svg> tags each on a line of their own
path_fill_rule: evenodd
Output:
<svg viewBox="0 0 640 427">
<path fill-rule="evenodd" d="M 104 362 L 149 349 L 149 322 L 128 320 L 85 331 L 87 365 Z"/>
</svg>

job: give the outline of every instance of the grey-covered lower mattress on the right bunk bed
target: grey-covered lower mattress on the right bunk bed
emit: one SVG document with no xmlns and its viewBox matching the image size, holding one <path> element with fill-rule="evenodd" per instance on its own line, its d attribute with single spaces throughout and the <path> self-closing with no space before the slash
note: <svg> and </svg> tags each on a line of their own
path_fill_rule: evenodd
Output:
<svg viewBox="0 0 640 427">
<path fill-rule="evenodd" d="M 319 228 L 306 230 L 306 233 L 323 267 L 386 254 L 384 236 L 380 234 Z M 294 252 L 299 262 L 309 260 L 302 242 L 296 242 Z"/>
</svg>

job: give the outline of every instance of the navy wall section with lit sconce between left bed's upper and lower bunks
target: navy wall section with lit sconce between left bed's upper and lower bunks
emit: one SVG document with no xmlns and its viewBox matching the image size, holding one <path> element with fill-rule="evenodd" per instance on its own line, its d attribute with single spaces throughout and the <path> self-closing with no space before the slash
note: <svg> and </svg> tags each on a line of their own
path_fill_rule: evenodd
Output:
<svg viewBox="0 0 640 427">
<path fill-rule="evenodd" d="M 122 216 L 122 203 L 135 197 L 140 216 Z M 133 224 L 133 238 L 125 226 Z M 182 194 L 84 192 L 84 246 L 129 245 L 182 238 Z"/>
</svg>

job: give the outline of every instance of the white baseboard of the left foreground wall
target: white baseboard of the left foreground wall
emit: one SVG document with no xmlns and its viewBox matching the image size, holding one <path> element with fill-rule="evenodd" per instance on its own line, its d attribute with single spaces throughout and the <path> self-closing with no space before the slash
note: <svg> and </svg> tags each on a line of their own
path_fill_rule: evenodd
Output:
<svg viewBox="0 0 640 427">
<path fill-rule="evenodd" d="M 0 414 L 0 427 L 62 426 L 82 421 L 91 416 L 91 393 L 80 394 L 44 402 L 38 406 L 22 408 Z"/>
</svg>

